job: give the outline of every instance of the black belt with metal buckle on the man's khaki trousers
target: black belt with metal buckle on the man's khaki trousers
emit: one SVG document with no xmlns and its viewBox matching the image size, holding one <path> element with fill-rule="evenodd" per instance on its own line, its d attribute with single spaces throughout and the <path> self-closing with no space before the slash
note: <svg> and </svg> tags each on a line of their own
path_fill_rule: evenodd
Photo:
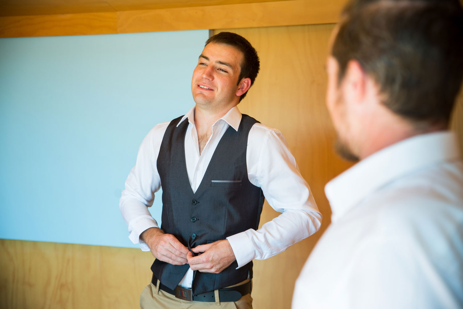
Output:
<svg viewBox="0 0 463 309">
<path fill-rule="evenodd" d="M 156 285 L 157 278 L 153 274 L 151 283 Z M 202 293 L 196 296 L 193 296 L 191 289 L 177 286 L 175 290 L 169 289 L 167 286 L 159 282 L 159 289 L 174 295 L 177 298 L 186 300 L 186 301 L 195 301 L 195 302 L 215 302 L 214 291 Z M 249 294 L 252 290 L 251 281 L 246 282 L 238 286 L 231 288 L 219 289 L 219 300 L 220 302 L 237 302 L 241 296 Z"/>
</svg>

